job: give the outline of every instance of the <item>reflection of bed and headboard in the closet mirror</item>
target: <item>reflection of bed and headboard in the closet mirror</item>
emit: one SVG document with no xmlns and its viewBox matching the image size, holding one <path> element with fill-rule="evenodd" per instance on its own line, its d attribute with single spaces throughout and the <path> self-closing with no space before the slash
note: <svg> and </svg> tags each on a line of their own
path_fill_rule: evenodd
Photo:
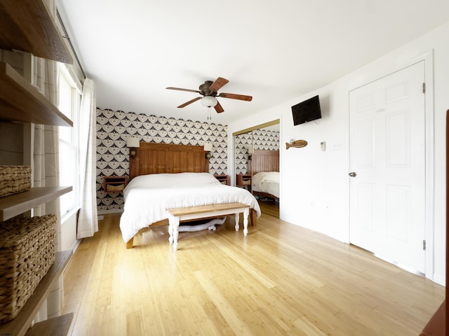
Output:
<svg viewBox="0 0 449 336">
<path fill-rule="evenodd" d="M 279 151 L 254 151 L 252 170 L 253 195 L 279 200 Z"/>
</svg>

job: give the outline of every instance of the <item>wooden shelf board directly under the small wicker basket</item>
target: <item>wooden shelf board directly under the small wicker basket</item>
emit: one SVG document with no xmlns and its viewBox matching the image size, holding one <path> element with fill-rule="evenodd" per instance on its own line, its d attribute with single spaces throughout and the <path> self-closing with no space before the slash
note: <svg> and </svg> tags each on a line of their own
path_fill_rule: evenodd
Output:
<svg viewBox="0 0 449 336">
<path fill-rule="evenodd" d="M 31 188 L 23 193 L 1 197 L 0 221 L 6 221 L 9 218 L 23 214 L 29 209 L 38 207 L 70 191 L 72 191 L 72 187 L 39 187 Z"/>
</svg>

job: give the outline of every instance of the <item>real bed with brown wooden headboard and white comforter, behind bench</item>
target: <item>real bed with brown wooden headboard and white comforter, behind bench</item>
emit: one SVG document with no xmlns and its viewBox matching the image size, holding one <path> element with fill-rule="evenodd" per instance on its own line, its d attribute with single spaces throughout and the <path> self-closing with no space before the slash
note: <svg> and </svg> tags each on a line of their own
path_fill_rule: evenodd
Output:
<svg viewBox="0 0 449 336">
<path fill-rule="evenodd" d="M 167 209 L 239 202 L 250 206 L 252 222 L 260 216 L 248 190 L 223 185 L 208 173 L 203 146 L 140 143 L 135 151 L 120 218 L 127 248 L 143 228 L 168 225 Z"/>
</svg>

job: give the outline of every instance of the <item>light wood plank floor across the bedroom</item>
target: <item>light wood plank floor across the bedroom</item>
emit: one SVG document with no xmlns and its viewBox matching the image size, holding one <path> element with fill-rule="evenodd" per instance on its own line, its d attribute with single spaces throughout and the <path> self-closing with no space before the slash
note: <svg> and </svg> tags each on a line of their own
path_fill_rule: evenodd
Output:
<svg viewBox="0 0 449 336">
<path fill-rule="evenodd" d="M 126 250 L 100 221 L 65 271 L 69 335 L 419 335 L 444 288 L 316 232 L 262 215 L 248 237 L 146 230 Z"/>
</svg>

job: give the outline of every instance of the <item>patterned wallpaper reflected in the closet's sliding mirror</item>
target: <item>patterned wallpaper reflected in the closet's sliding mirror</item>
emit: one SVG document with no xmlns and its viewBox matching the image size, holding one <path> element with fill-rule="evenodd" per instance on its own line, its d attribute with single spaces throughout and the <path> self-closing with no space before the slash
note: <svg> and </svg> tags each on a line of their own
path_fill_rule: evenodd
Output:
<svg viewBox="0 0 449 336">
<path fill-rule="evenodd" d="M 254 130 L 236 135 L 236 174 L 248 174 L 248 148 L 279 151 L 279 131 Z"/>
</svg>

